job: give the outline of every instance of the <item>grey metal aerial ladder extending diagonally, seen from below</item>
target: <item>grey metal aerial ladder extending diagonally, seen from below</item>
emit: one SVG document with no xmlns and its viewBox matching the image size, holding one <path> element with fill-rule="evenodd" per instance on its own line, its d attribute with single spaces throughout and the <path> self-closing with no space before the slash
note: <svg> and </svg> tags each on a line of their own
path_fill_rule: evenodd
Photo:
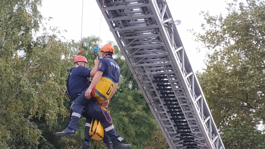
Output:
<svg viewBox="0 0 265 149">
<path fill-rule="evenodd" d="M 96 0 L 171 149 L 225 149 L 166 0 Z"/>
</svg>

